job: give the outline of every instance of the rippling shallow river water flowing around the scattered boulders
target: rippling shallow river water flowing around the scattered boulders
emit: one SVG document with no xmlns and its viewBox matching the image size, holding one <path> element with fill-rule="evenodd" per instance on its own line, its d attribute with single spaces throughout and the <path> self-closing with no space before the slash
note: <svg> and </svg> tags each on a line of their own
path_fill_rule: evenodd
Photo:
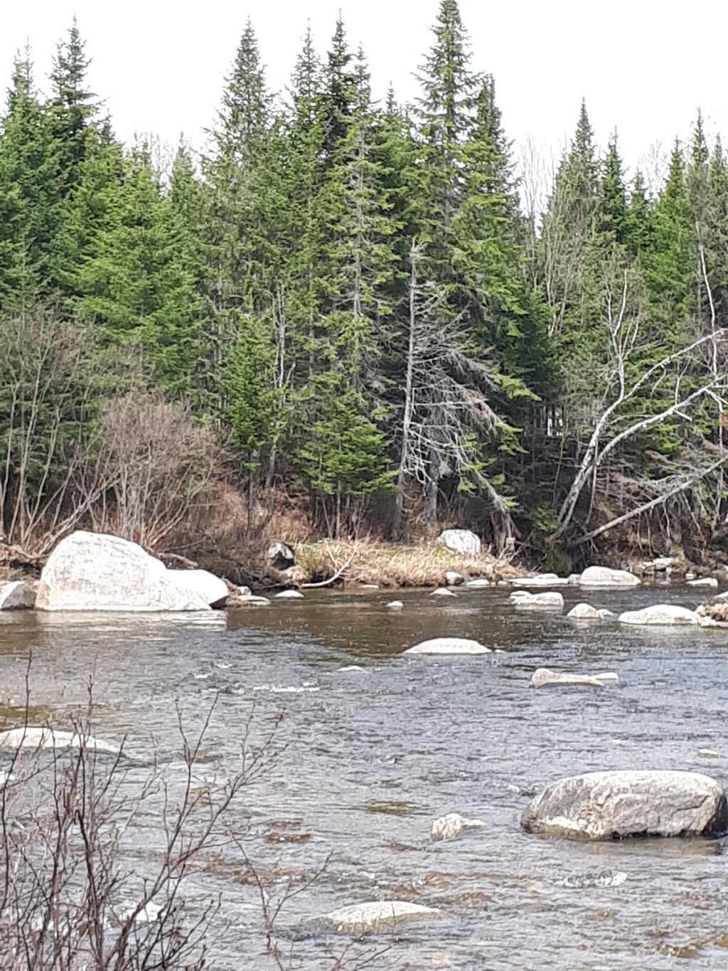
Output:
<svg viewBox="0 0 728 971">
<path fill-rule="evenodd" d="M 687 588 L 564 592 L 567 610 L 700 600 Z M 584 625 L 508 605 L 503 589 L 397 596 L 401 612 L 375 590 L 312 591 L 227 617 L 0 615 L 0 684 L 22 705 L 32 652 L 31 709 L 67 727 L 92 676 L 95 733 L 172 765 L 175 705 L 195 729 L 216 699 L 202 760 L 218 776 L 234 771 L 247 726 L 259 742 L 282 712 L 278 754 L 236 812 L 270 898 L 298 890 L 276 921 L 291 966 L 727 967 L 723 843 L 581 844 L 528 835 L 518 820 L 541 787 L 597 769 L 694 770 L 725 785 L 728 630 Z M 503 653 L 401 656 L 444 635 Z M 539 666 L 612 670 L 620 685 L 530 689 Z M 449 812 L 485 826 L 431 844 L 432 820 Z M 153 844 L 153 831 L 140 836 Z M 194 874 L 194 892 L 222 894 L 211 967 L 273 966 L 247 872 L 231 846 Z M 348 950 L 346 938 L 300 930 L 393 898 L 442 915 Z"/>
</svg>

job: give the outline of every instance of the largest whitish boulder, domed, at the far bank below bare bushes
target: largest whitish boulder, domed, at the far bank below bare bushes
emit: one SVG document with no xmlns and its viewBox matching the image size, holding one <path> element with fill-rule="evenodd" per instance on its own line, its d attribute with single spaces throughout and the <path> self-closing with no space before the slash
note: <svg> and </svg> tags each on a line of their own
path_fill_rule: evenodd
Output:
<svg viewBox="0 0 728 971">
<path fill-rule="evenodd" d="M 50 554 L 41 574 L 36 608 L 47 611 L 210 610 L 198 593 L 181 586 L 136 543 L 104 533 L 72 533 Z M 224 585 L 223 585 L 224 586 Z M 225 590 L 227 595 L 227 589 Z"/>
</svg>

